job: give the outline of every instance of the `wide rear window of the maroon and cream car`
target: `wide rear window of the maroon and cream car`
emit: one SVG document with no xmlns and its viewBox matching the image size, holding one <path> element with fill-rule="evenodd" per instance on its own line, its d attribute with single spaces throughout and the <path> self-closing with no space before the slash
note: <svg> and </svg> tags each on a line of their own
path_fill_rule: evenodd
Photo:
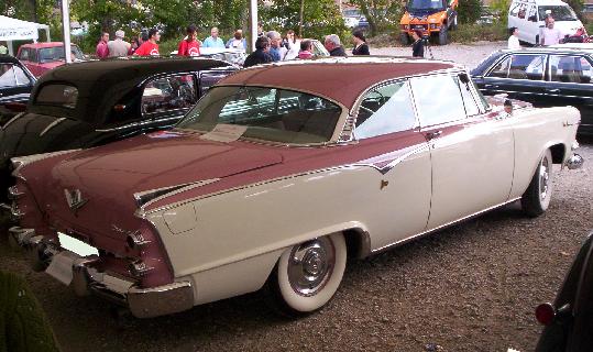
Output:
<svg viewBox="0 0 593 352">
<path fill-rule="evenodd" d="M 286 144 L 331 140 L 342 109 L 323 98 L 268 87 L 215 87 L 177 124 L 179 129 L 233 134 Z M 221 141 L 220 139 L 217 139 Z M 231 141 L 228 140 L 228 141 Z"/>
</svg>

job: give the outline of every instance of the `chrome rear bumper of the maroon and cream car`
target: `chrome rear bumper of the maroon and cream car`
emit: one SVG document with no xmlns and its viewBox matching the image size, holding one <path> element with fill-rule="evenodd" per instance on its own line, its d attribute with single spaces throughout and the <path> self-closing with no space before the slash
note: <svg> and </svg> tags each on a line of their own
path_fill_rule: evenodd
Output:
<svg viewBox="0 0 593 352">
<path fill-rule="evenodd" d="M 24 248 L 33 260 L 33 267 L 45 270 L 55 255 L 68 252 L 43 241 L 33 229 L 9 229 L 11 243 Z M 90 264 L 96 256 L 75 256 L 72 267 L 72 286 L 78 296 L 97 295 L 112 302 L 127 306 L 136 318 L 152 318 L 190 309 L 194 307 L 194 289 L 190 282 L 142 288 L 135 282 L 97 272 Z"/>
</svg>

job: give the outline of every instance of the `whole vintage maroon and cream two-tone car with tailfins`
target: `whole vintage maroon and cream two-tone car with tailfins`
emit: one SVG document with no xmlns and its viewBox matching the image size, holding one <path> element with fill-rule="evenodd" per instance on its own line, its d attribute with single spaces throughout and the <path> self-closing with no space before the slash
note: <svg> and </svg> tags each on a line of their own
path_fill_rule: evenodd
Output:
<svg viewBox="0 0 593 352">
<path fill-rule="evenodd" d="M 10 232 L 76 293 L 136 317 L 262 287 L 307 314 L 333 296 L 348 253 L 519 199 L 546 211 L 552 164 L 582 163 L 579 120 L 490 106 L 448 62 L 263 65 L 223 78 L 172 130 L 13 160 Z"/>
</svg>

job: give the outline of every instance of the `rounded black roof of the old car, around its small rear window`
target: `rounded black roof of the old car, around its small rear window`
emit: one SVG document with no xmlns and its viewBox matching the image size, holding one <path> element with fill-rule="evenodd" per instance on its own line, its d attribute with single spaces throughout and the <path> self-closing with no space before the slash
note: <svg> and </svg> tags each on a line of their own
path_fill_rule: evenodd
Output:
<svg viewBox="0 0 593 352">
<path fill-rule="evenodd" d="M 134 57 L 63 65 L 47 72 L 37 80 L 31 92 L 28 111 L 102 123 L 106 109 L 111 109 L 150 77 L 217 67 L 233 66 L 223 61 L 204 57 Z M 35 105 L 40 89 L 50 84 L 76 87 L 78 89 L 76 108 Z"/>
</svg>

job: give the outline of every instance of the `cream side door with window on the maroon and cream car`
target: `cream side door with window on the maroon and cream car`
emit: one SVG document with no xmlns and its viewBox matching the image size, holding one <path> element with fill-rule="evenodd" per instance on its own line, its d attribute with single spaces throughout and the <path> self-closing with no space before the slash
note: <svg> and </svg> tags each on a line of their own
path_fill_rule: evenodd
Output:
<svg viewBox="0 0 593 352">
<path fill-rule="evenodd" d="M 513 129 L 484 116 L 465 74 L 411 79 L 421 133 L 430 146 L 432 195 L 427 230 L 507 201 L 513 180 Z"/>
</svg>

